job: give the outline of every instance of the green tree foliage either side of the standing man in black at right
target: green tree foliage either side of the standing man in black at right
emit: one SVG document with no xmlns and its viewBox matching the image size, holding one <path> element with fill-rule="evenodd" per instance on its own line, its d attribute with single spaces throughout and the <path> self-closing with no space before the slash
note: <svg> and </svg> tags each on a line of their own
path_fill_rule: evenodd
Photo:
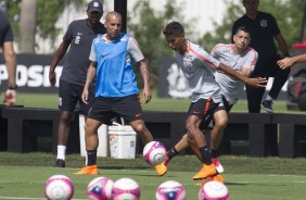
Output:
<svg viewBox="0 0 306 200">
<path fill-rule="evenodd" d="M 225 13 L 221 24 L 215 24 L 215 32 L 204 34 L 199 40 L 205 49 L 209 52 L 216 43 L 231 42 L 231 27 L 233 22 L 245 13 L 241 2 L 239 4 L 227 0 L 228 9 Z M 281 29 L 282 35 L 286 39 L 289 46 L 298 42 L 303 9 L 305 0 L 262 0 L 259 3 L 259 11 L 271 13 Z"/>
</svg>

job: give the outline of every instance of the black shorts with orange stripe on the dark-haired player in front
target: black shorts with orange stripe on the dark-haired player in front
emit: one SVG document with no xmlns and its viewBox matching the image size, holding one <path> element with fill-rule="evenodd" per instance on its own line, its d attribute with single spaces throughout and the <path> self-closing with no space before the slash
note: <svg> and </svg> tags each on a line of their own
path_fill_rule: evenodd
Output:
<svg viewBox="0 0 306 200">
<path fill-rule="evenodd" d="M 219 103 L 215 103 L 212 99 L 199 99 L 189 107 L 188 116 L 195 115 L 202 118 L 202 124 L 209 125 L 213 123 L 215 110 Z M 213 124 L 212 124 L 213 125 Z"/>
</svg>

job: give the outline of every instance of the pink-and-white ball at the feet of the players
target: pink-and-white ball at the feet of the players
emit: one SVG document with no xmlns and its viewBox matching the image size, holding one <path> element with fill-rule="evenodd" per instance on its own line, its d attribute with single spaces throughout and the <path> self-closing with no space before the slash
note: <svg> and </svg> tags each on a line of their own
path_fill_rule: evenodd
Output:
<svg viewBox="0 0 306 200">
<path fill-rule="evenodd" d="M 146 163 L 152 165 L 164 162 L 166 153 L 165 146 L 160 141 L 150 141 L 143 148 L 143 158 Z"/>
</svg>

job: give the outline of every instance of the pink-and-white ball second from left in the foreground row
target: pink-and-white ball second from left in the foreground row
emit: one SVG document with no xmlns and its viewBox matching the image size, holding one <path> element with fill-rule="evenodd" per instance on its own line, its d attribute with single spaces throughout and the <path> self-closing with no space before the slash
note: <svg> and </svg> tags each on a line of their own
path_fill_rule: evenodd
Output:
<svg viewBox="0 0 306 200">
<path fill-rule="evenodd" d="M 107 177 L 97 177 L 87 186 L 87 197 L 90 200 L 111 200 L 114 182 Z"/>
</svg>

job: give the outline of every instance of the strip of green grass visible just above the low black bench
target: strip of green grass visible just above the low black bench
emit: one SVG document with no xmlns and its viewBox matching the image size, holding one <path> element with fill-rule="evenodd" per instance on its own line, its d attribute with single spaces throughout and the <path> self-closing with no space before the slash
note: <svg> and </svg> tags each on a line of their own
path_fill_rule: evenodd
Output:
<svg viewBox="0 0 306 200">
<path fill-rule="evenodd" d="M 190 100 L 189 99 L 171 99 L 158 98 L 156 91 L 153 90 L 153 98 L 151 102 L 143 103 L 142 108 L 145 111 L 173 111 L 173 112 L 187 112 Z M 18 93 L 16 104 L 28 108 L 47 108 L 58 109 L 58 95 L 56 93 Z M 305 113 L 303 111 L 289 111 L 285 101 L 275 101 L 273 109 L 276 113 Z M 246 113 L 246 100 L 239 100 L 233 107 L 231 112 Z M 265 111 L 262 111 L 265 112 Z"/>
</svg>

